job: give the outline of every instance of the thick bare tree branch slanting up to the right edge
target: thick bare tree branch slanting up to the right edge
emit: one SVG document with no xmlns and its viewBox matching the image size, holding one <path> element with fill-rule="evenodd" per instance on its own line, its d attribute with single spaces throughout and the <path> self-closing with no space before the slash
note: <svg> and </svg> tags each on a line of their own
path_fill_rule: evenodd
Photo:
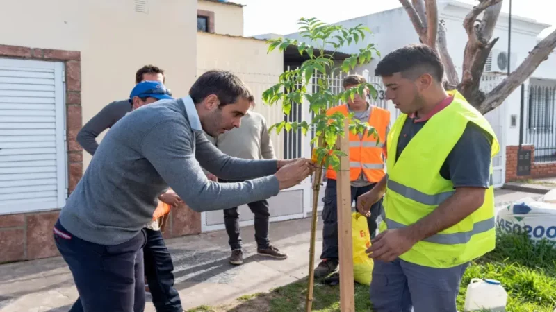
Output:
<svg viewBox="0 0 556 312">
<path fill-rule="evenodd" d="M 486 98 L 482 101 L 479 111 L 486 114 L 496 107 L 500 106 L 512 94 L 519 85 L 521 85 L 531 74 L 539 67 L 541 62 L 548 58 L 550 52 L 556 48 L 556 30 L 550 33 L 546 38 L 541 40 L 529 53 L 528 57 L 516 68 L 516 70 L 509 74 L 509 76 L 492 89 Z"/>
</svg>

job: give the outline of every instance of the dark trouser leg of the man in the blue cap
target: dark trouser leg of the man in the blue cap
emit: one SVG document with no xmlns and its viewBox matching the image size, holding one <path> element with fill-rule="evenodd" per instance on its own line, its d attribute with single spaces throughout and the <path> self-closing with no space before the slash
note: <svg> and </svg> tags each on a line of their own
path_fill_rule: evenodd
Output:
<svg viewBox="0 0 556 312">
<path fill-rule="evenodd" d="M 147 244 L 143 248 L 145 276 L 157 312 L 181 312 L 179 293 L 174 288 L 174 264 L 166 248 L 161 231 L 144 229 Z"/>
</svg>

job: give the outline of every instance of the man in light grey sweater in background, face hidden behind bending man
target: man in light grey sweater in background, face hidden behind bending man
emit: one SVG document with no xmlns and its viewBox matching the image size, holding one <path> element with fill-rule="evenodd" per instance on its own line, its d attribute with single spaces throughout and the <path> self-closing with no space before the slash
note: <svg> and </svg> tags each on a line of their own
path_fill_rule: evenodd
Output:
<svg viewBox="0 0 556 312">
<path fill-rule="evenodd" d="M 265 118 L 263 115 L 252 110 L 247 111 L 247 114 L 241 119 L 240 128 L 228 131 L 216 138 L 207 136 L 207 139 L 212 141 L 222 153 L 231 157 L 275 159 L 274 148 L 272 147 L 272 141 L 270 141 Z M 232 182 L 229 180 L 219 181 Z M 268 237 L 268 228 L 270 227 L 268 200 L 250 202 L 247 205 L 255 215 L 254 226 L 257 254 L 275 259 L 286 259 L 288 257 L 287 254 L 280 252 L 280 250 L 270 245 Z M 231 248 L 229 262 L 236 265 L 242 264 L 243 251 L 241 249 L 242 240 L 240 237 L 238 207 L 224 210 L 224 225 L 226 226 L 226 232 L 229 237 L 228 243 Z"/>
</svg>

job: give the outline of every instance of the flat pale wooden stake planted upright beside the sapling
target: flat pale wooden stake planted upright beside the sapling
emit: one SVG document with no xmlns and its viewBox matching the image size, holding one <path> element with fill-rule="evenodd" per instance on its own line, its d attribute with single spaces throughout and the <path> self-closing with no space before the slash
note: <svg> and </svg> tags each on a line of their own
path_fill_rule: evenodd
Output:
<svg viewBox="0 0 556 312">
<path fill-rule="evenodd" d="M 340 158 L 337 174 L 338 193 L 338 255 L 340 262 L 340 311 L 354 312 L 352 196 L 350 186 L 349 121 L 345 119 L 344 136 L 338 137 L 338 146 L 347 156 Z"/>
</svg>

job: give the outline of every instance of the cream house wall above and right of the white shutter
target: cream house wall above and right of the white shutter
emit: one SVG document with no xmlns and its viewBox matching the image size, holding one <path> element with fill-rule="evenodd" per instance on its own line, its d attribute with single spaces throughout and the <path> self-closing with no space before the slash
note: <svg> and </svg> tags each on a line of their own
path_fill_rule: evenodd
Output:
<svg viewBox="0 0 556 312">
<path fill-rule="evenodd" d="M 197 1 L 148 3 L 145 14 L 133 0 L 2 1 L 0 44 L 81 51 L 84 124 L 104 105 L 127 98 L 145 64 L 167 71 L 176 96 L 195 80 Z M 83 157 L 86 168 L 90 155 Z"/>
</svg>

